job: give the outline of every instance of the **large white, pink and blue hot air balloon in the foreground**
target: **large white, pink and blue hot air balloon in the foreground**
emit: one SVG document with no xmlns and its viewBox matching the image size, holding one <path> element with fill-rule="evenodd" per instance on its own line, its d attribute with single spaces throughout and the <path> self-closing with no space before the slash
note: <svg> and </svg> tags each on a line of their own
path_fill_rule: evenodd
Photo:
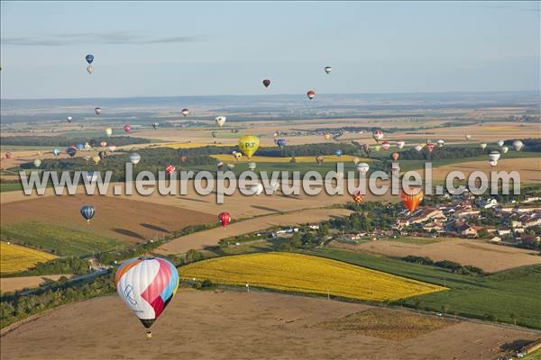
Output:
<svg viewBox="0 0 541 360">
<path fill-rule="evenodd" d="M 179 288 L 179 272 L 161 257 L 124 261 L 116 270 L 116 293 L 146 329 L 158 320 Z M 147 330 L 151 338 L 151 330 Z"/>
</svg>

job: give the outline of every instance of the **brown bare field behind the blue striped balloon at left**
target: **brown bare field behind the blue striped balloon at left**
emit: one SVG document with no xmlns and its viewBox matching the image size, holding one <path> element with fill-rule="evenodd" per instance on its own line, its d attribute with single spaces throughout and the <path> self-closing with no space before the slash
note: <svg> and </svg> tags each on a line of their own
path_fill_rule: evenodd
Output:
<svg viewBox="0 0 541 360">
<path fill-rule="evenodd" d="M 87 225 L 79 213 L 86 203 L 92 203 L 96 215 Z M 20 202 L 2 203 L 1 224 L 10 225 L 33 220 L 47 224 L 90 231 L 127 243 L 138 243 L 183 229 L 188 225 L 215 222 L 214 214 L 137 202 L 109 196 L 46 196 Z"/>
</svg>

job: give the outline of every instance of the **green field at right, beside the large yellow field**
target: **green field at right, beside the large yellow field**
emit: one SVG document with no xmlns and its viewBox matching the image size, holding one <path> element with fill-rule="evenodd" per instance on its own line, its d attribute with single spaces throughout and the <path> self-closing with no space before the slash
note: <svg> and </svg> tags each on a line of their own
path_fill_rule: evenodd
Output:
<svg viewBox="0 0 541 360">
<path fill-rule="evenodd" d="M 434 266 L 410 264 L 389 257 L 321 248 L 306 251 L 310 255 L 329 257 L 358 266 L 365 266 L 393 275 L 401 275 L 431 284 L 445 285 L 451 291 L 418 296 L 404 301 L 408 306 L 513 323 L 541 329 L 541 265 L 525 266 L 484 277 L 452 274 Z"/>
</svg>

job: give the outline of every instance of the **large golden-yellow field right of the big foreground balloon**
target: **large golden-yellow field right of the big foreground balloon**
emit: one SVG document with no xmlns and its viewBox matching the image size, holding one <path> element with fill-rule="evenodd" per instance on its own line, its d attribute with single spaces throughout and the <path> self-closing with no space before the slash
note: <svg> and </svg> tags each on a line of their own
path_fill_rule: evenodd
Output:
<svg viewBox="0 0 541 360">
<path fill-rule="evenodd" d="M 323 257 L 291 253 L 217 257 L 181 267 L 180 276 L 298 293 L 328 292 L 333 296 L 375 302 L 446 289 Z"/>
</svg>

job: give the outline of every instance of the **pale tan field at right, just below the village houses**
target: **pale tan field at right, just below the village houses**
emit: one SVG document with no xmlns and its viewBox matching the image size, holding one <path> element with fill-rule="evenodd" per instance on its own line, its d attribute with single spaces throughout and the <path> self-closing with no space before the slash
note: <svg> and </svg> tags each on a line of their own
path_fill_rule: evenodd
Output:
<svg viewBox="0 0 541 360">
<path fill-rule="evenodd" d="M 481 267 L 486 272 L 494 273 L 518 266 L 539 264 L 541 261 L 536 251 L 517 247 L 490 244 L 481 240 L 447 238 L 432 244 L 417 245 L 401 241 L 376 240 L 359 245 L 333 243 L 334 247 L 343 247 L 356 251 L 381 254 L 388 257 L 430 257 L 433 260 L 451 260 L 462 265 Z"/>
</svg>

